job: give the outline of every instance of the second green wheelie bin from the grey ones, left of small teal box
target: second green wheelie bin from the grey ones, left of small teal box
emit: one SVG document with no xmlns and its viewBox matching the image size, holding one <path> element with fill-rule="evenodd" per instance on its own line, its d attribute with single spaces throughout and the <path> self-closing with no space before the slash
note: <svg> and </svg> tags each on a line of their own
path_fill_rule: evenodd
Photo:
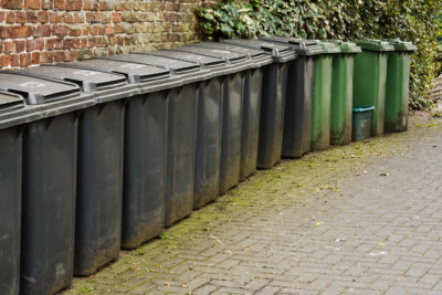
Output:
<svg viewBox="0 0 442 295">
<path fill-rule="evenodd" d="M 352 76 L 355 56 L 361 50 L 355 43 L 336 41 L 341 49 L 333 60 L 330 145 L 351 141 Z"/>
</svg>

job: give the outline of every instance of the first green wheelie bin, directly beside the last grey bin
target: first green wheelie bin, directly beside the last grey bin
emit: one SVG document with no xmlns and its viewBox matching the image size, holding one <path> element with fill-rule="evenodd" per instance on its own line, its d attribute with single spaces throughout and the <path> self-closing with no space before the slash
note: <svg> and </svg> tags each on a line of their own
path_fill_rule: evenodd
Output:
<svg viewBox="0 0 442 295">
<path fill-rule="evenodd" d="M 332 73 L 334 57 L 340 53 L 334 43 L 318 42 L 324 50 L 315 65 L 315 85 L 312 102 L 312 150 L 330 146 Z"/>
</svg>

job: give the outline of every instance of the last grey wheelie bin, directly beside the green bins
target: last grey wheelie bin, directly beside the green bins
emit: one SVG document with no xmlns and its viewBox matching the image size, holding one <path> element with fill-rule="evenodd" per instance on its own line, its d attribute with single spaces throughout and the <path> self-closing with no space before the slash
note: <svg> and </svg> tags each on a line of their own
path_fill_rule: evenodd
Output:
<svg viewBox="0 0 442 295">
<path fill-rule="evenodd" d="M 299 158 L 311 150 L 315 64 L 324 51 L 314 40 L 285 36 L 260 40 L 285 44 L 296 52 L 297 59 L 290 64 L 287 74 L 282 156 Z"/>
</svg>

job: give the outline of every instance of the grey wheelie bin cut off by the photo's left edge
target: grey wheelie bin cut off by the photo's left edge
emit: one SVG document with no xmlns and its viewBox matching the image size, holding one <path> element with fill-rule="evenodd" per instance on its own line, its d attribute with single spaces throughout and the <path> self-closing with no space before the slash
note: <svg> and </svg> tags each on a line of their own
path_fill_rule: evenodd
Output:
<svg viewBox="0 0 442 295">
<path fill-rule="evenodd" d="M 22 135 L 39 118 L 38 106 L 0 92 L 0 294 L 19 294 Z"/>
</svg>

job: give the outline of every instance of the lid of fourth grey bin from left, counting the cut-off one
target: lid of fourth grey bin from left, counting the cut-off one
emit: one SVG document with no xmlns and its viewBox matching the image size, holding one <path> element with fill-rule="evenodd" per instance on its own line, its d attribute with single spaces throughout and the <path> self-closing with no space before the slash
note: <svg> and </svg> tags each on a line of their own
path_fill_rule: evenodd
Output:
<svg viewBox="0 0 442 295">
<path fill-rule="evenodd" d="M 141 93 L 181 85 L 178 78 L 170 76 L 168 70 L 140 63 L 95 59 L 62 65 L 124 75 L 129 84 L 137 84 Z"/>
</svg>

